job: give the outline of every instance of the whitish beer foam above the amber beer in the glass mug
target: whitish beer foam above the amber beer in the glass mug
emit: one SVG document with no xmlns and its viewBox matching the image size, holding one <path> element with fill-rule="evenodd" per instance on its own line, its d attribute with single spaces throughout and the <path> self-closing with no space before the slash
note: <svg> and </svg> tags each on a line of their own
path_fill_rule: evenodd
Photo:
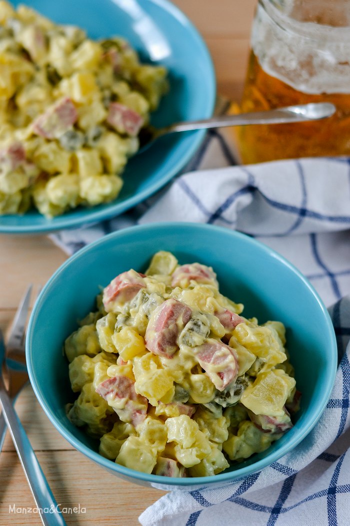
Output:
<svg viewBox="0 0 350 526">
<path fill-rule="evenodd" d="M 348 27 L 299 22 L 279 14 L 273 21 L 259 4 L 251 46 L 263 70 L 309 94 L 350 92 Z"/>
</svg>

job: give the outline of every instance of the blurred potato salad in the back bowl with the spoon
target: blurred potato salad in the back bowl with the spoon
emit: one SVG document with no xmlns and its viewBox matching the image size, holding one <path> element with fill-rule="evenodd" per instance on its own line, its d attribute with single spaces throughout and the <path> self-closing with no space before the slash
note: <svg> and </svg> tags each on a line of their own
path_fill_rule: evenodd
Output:
<svg viewBox="0 0 350 526">
<path fill-rule="evenodd" d="M 99 42 L 0 1 L 0 214 L 54 217 L 118 196 L 166 70 L 128 42 Z"/>
</svg>

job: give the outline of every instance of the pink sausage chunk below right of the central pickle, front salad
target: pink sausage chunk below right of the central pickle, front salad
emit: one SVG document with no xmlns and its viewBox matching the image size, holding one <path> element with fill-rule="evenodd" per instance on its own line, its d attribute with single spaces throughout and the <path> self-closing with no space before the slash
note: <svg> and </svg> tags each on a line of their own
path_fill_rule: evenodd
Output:
<svg viewBox="0 0 350 526">
<path fill-rule="evenodd" d="M 193 351 L 200 367 L 206 371 L 216 389 L 223 391 L 236 380 L 238 362 L 234 349 L 222 341 L 208 338 L 202 345 L 194 347 Z"/>
</svg>

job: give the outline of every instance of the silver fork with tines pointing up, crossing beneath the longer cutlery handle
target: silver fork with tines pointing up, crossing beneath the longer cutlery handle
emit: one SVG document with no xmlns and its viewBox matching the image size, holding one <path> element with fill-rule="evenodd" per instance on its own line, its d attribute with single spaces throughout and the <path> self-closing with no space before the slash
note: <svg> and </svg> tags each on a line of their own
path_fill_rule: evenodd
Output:
<svg viewBox="0 0 350 526">
<path fill-rule="evenodd" d="M 6 369 L 8 371 L 8 393 L 14 399 L 28 381 L 25 357 L 26 321 L 29 311 L 31 289 L 29 285 L 25 291 L 12 322 L 6 345 Z M 40 288 L 37 296 L 39 295 Z M 3 449 L 6 436 L 6 422 L 3 413 L 0 414 L 0 452 Z"/>
</svg>

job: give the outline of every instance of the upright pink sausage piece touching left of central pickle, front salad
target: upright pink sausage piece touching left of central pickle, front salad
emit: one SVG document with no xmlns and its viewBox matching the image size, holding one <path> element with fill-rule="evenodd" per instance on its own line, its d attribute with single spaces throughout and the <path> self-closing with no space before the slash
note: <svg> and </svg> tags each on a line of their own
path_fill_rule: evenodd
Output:
<svg viewBox="0 0 350 526">
<path fill-rule="evenodd" d="M 191 316 L 191 309 L 181 301 L 172 298 L 164 301 L 153 311 L 147 325 L 147 349 L 155 355 L 171 358 L 178 349 L 178 335 Z"/>
</svg>

